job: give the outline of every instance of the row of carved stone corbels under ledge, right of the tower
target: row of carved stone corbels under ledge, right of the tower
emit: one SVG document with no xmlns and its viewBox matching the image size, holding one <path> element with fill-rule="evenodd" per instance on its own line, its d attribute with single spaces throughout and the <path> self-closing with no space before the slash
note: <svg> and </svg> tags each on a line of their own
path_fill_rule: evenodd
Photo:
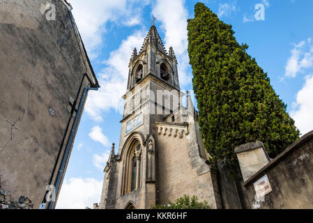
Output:
<svg viewBox="0 0 313 223">
<path fill-rule="evenodd" d="M 167 135 L 168 137 L 183 138 L 184 134 L 189 134 L 188 124 L 156 123 L 155 128 L 157 128 L 158 134 Z"/>
</svg>

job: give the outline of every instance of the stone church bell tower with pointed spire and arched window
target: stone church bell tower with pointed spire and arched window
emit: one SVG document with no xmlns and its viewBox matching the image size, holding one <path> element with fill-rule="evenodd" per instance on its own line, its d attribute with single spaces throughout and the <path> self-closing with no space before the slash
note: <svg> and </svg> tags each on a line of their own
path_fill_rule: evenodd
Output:
<svg viewBox="0 0 313 223">
<path fill-rule="evenodd" d="M 130 58 L 119 150 L 112 146 L 100 208 L 151 208 L 183 194 L 220 206 L 197 112 L 189 93 L 181 105 L 183 95 L 174 50 L 153 24 Z"/>
</svg>

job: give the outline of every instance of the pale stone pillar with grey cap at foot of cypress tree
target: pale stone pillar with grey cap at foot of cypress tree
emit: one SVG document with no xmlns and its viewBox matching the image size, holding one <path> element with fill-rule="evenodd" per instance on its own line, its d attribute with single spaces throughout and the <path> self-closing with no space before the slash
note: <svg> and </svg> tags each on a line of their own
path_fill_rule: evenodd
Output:
<svg viewBox="0 0 313 223">
<path fill-rule="evenodd" d="M 243 181 L 248 180 L 270 162 L 270 157 L 268 157 L 264 144 L 261 141 L 238 146 L 235 148 L 235 153 L 241 167 Z"/>
</svg>

